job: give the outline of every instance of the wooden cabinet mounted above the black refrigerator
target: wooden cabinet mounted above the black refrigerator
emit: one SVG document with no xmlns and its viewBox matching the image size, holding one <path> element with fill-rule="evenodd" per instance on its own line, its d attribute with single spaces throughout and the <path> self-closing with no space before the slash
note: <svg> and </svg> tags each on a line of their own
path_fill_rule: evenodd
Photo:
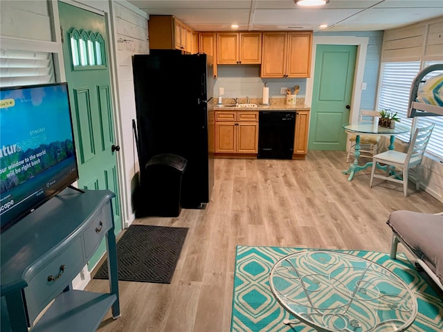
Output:
<svg viewBox="0 0 443 332">
<path fill-rule="evenodd" d="M 151 15 L 151 49 L 177 49 L 192 53 L 192 29 L 172 15 Z"/>
</svg>

